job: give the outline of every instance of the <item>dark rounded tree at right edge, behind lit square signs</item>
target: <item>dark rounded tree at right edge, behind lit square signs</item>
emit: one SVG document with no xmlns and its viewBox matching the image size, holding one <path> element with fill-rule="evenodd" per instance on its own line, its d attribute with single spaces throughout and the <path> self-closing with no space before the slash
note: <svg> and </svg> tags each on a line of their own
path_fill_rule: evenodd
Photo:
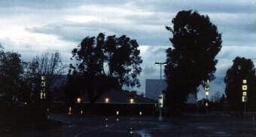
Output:
<svg viewBox="0 0 256 137">
<path fill-rule="evenodd" d="M 227 101 L 233 110 L 242 111 L 244 109 L 242 104 L 242 80 L 246 80 L 248 86 L 248 102 L 246 105 L 249 110 L 253 111 L 254 91 L 256 90 L 254 86 L 255 77 L 255 68 L 251 59 L 237 56 L 233 60 L 233 65 L 227 70 L 224 78 Z"/>
</svg>

